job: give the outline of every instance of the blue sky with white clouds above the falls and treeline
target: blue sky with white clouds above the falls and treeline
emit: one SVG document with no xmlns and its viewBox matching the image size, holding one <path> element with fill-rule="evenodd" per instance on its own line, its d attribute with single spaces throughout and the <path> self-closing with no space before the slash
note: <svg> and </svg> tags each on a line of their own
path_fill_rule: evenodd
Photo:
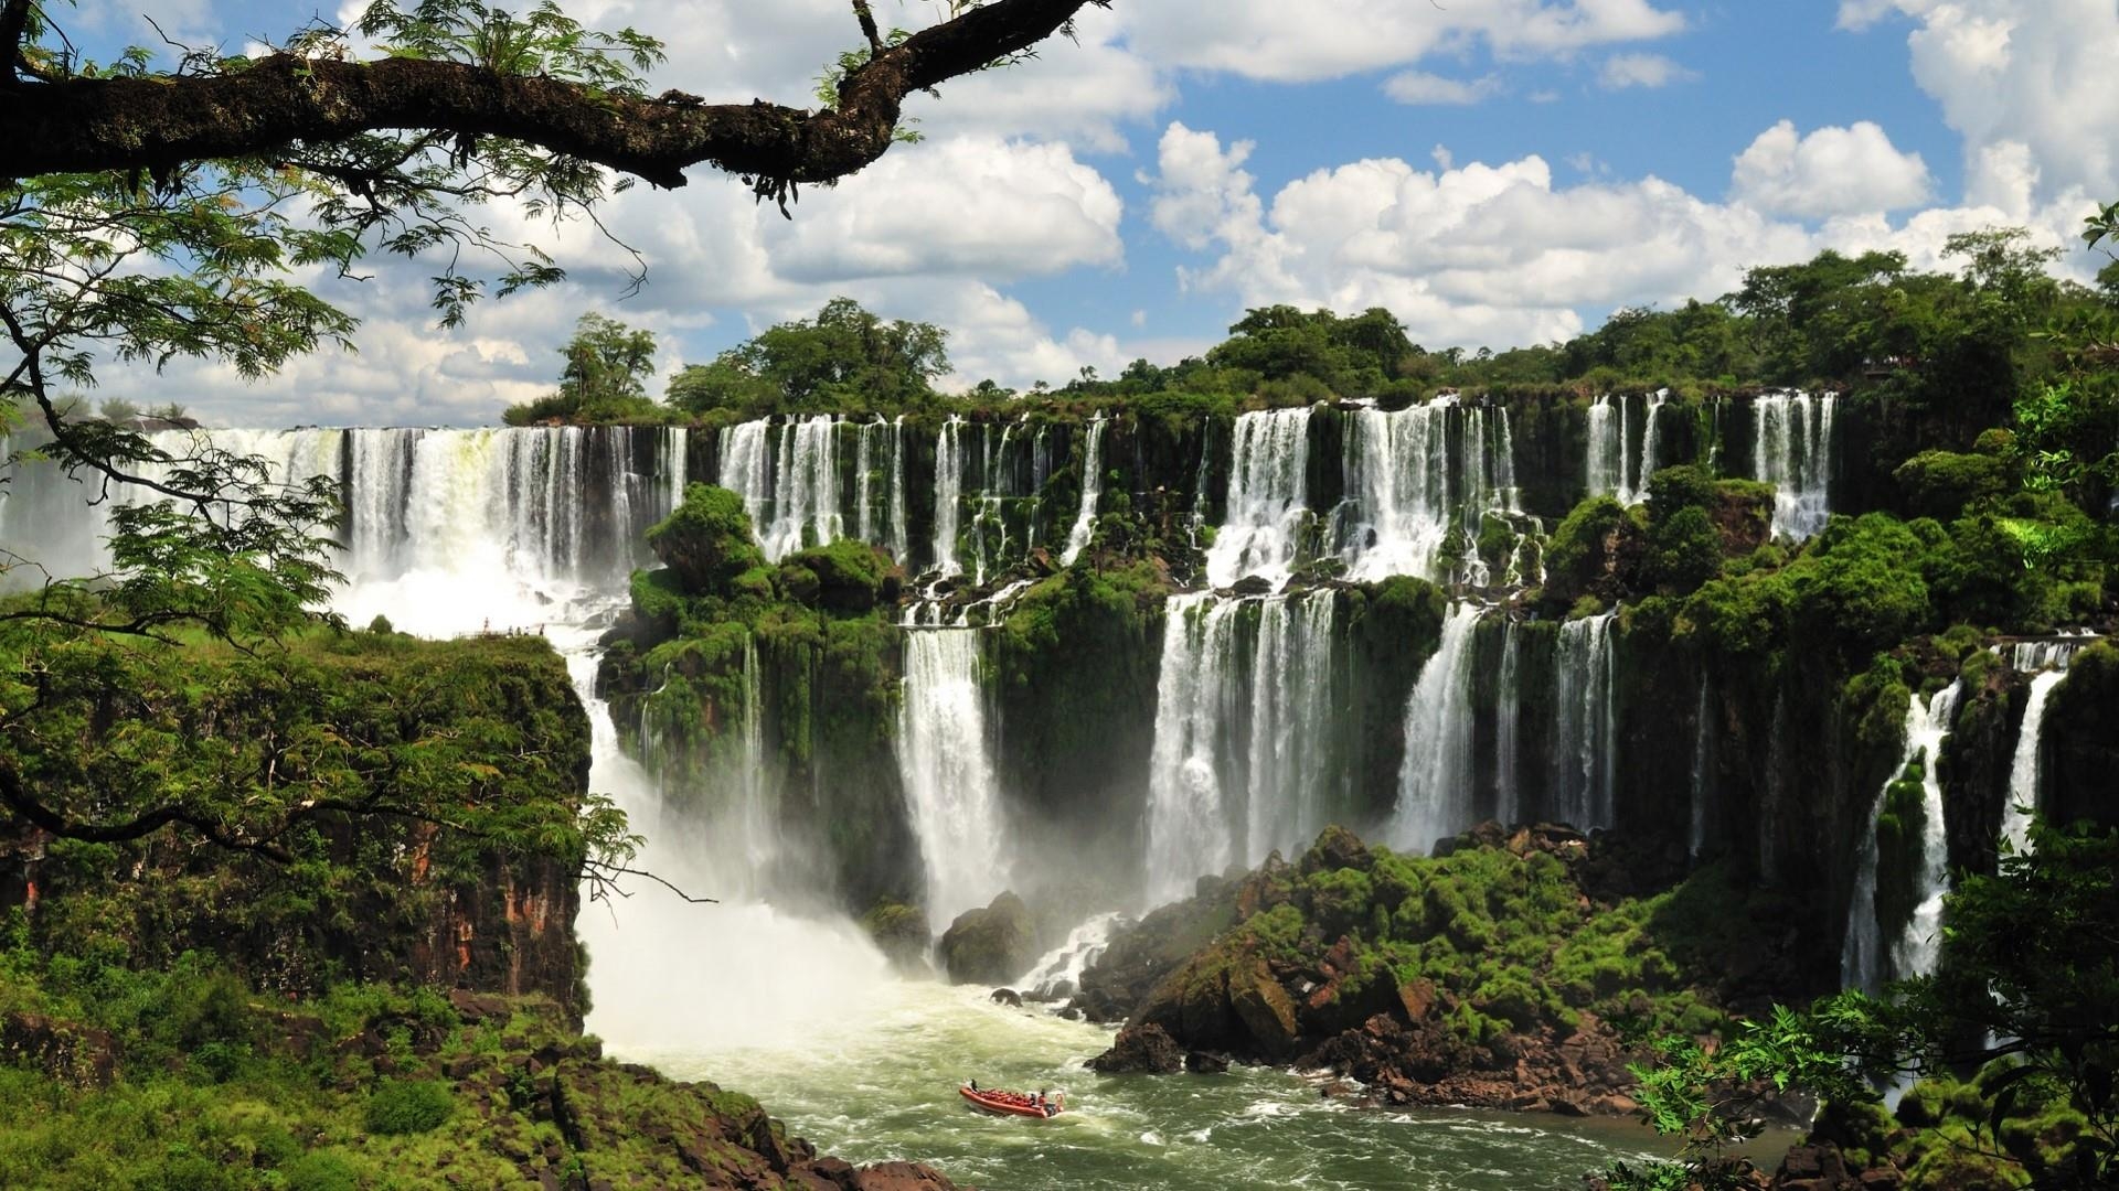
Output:
<svg viewBox="0 0 2119 1191">
<path fill-rule="evenodd" d="M 350 21 L 364 0 L 324 11 Z M 570 0 L 667 42 L 653 89 L 805 104 L 858 45 L 845 0 Z M 877 0 L 909 30 L 934 0 Z M 78 0 L 87 47 L 256 51 L 290 8 Z M 595 229 L 500 212 L 570 280 L 437 331 L 420 265 L 320 292 L 358 352 L 246 384 L 210 365 L 106 371 L 97 396 L 210 424 L 477 426 L 549 392 L 583 312 L 684 362 L 848 295 L 949 331 L 949 386 L 1176 362 L 1267 303 L 1392 309 L 1426 348 L 1502 350 L 1617 307 L 1733 290 L 1822 248 L 1945 267 L 1947 235 L 2077 231 L 2119 199 L 2119 0 L 1115 0 L 1076 42 L 909 106 L 924 140 L 795 218 L 695 167 Z"/>
</svg>

